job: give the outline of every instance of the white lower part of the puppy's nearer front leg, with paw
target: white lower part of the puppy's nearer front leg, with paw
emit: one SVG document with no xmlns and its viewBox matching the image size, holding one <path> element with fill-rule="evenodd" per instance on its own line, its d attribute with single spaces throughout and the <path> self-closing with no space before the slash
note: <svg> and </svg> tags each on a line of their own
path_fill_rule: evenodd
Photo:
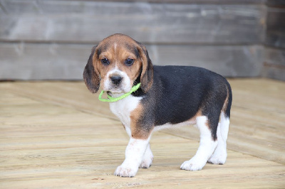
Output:
<svg viewBox="0 0 285 189">
<path fill-rule="evenodd" d="M 135 176 L 149 141 L 150 137 L 148 139 L 130 138 L 129 144 L 125 149 L 125 161 L 118 166 L 114 174 L 121 177 Z"/>
</svg>

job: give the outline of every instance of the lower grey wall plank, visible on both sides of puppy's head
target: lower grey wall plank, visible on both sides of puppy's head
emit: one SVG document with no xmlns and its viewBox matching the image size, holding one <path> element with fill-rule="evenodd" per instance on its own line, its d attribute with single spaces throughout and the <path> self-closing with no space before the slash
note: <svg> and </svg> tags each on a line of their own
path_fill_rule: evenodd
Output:
<svg viewBox="0 0 285 189">
<path fill-rule="evenodd" d="M 0 80 L 82 80 L 92 46 L 0 43 Z M 262 66 L 259 45 L 147 45 L 147 50 L 155 65 L 195 65 L 228 77 L 256 77 Z"/>
</svg>

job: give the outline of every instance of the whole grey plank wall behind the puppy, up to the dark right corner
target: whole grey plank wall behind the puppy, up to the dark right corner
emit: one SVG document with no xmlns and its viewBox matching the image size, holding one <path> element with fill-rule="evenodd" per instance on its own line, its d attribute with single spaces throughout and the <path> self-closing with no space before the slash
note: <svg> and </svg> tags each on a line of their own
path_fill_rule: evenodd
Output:
<svg viewBox="0 0 285 189">
<path fill-rule="evenodd" d="M 145 43 L 156 65 L 257 77 L 266 10 L 264 0 L 0 0 L 0 80 L 81 80 L 92 46 L 113 33 Z"/>
</svg>

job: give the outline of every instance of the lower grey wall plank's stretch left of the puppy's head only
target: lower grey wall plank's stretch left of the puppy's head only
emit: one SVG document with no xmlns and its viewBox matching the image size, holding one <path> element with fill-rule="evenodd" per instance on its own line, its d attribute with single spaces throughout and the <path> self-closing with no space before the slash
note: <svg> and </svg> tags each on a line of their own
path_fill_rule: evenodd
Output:
<svg viewBox="0 0 285 189">
<path fill-rule="evenodd" d="M 1 43 L 0 78 L 82 80 L 92 45 Z"/>
</svg>

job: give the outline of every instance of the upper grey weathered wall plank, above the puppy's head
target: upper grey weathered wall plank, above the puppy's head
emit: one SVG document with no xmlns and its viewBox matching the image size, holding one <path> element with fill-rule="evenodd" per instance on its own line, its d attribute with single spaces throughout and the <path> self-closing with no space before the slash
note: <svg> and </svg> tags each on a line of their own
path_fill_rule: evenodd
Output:
<svg viewBox="0 0 285 189">
<path fill-rule="evenodd" d="M 4 1 L 3 6 L 1 41 L 98 43 L 125 33 L 142 43 L 244 44 L 259 43 L 265 31 L 260 5 Z"/>
</svg>

